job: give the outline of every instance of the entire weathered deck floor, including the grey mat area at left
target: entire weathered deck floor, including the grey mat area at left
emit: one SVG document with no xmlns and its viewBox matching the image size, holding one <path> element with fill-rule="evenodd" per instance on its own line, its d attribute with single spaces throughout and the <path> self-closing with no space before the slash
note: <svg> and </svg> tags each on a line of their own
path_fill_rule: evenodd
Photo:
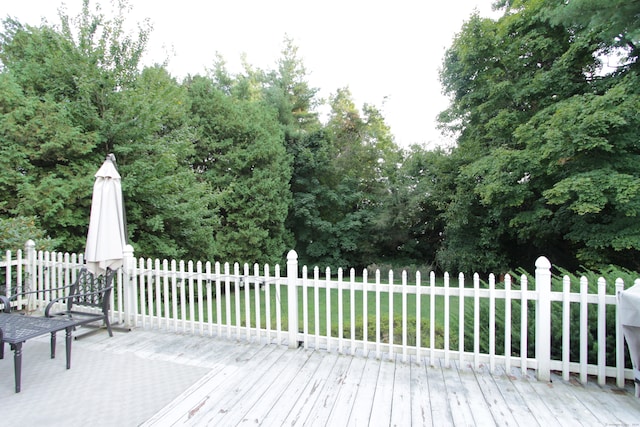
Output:
<svg viewBox="0 0 640 427">
<path fill-rule="evenodd" d="M 4 416 L 22 425 L 54 425 L 37 418 L 51 408 L 60 409 L 59 418 L 52 418 L 60 425 L 92 427 L 640 425 L 640 400 L 631 384 L 622 390 L 595 381 L 583 386 L 558 376 L 546 383 L 517 369 L 491 374 L 486 367 L 447 368 L 441 360 L 431 366 L 428 359 L 404 363 L 401 357 L 378 360 L 142 329 L 75 341 L 72 369 L 66 371 L 63 360 L 47 359 L 46 340 L 38 345 L 25 349 L 31 359 L 20 394 L 11 392 L 12 357 L 0 362 L 0 397 L 9 409 Z M 36 375 L 37 364 L 55 367 L 55 375 Z M 83 369 L 91 371 L 89 378 Z M 63 382 L 63 389 L 75 390 L 72 408 L 65 408 L 64 394 L 47 389 Z M 101 400 L 87 400 L 93 394 Z M 91 408 L 105 401 L 107 412 Z"/>
</svg>

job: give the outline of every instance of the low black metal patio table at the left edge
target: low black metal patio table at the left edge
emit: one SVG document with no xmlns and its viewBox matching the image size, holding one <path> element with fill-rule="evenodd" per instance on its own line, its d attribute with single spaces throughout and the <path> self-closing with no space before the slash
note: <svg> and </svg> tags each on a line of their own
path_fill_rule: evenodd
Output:
<svg viewBox="0 0 640 427">
<path fill-rule="evenodd" d="M 14 351 L 16 393 L 20 392 L 22 376 L 22 344 L 35 337 L 51 334 L 51 358 L 56 356 L 56 332 L 66 331 L 67 369 L 71 368 L 72 331 L 81 322 L 66 317 L 36 317 L 18 313 L 0 313 L 0 359 L 4 358 L 4 343 Z"/>
</svg>

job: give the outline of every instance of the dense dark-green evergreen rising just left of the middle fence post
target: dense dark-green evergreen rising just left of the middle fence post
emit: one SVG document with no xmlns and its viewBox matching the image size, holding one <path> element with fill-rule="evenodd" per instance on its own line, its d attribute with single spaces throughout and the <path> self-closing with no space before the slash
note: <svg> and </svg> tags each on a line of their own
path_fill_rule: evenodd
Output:
<svg viewBox="0 0 640 427">
<path fill-rule="evenodd" d="M 197 129 L 194 167 L 215 193 L 216 254 L 241 262 L 280 262 L 291 164 L 275 112 L 260 101 L 226 95 L 196 76 L 186 83 Z"/>
</svg>

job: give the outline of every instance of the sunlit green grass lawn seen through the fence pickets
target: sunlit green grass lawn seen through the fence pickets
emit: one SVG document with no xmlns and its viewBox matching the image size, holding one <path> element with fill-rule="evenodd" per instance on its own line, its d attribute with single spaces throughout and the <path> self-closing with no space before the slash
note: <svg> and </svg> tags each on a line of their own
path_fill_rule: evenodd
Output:
<svg viewBox="0 0 640 427">
<path fill-rule="evenodd" d="M 348 284 L 345 283 L 345 286 Z M 414 286 L 414 285 L 410 285 Z M 437 283 L 437 286 L 442 286 L 442 283 Z M 223 286 L 224 288 L 224 286 Z M 288 329 L 288 319 L 287 319 L 287 287 L 286 285 L 280 285 L 280 292 L 276 292 L 276 286 L 272 285 L 269 287 L 268 292 L 268 301 L 269 301 L 269 311 L 271 319 L 270 328 L 275 330 L 277 327 L 277 313 L 280 315 L 280 324 L 282 330 Z M 228 293 L 222 293 L 220 295 L 219 301 L 215 296 L 212 297 L 211 301 L 211 319 L 212 323 L 220 323 L 222 325 L 231 325 L 235 326 L 240 324 L 245 326 L 247 323 L 251 328 L 256 328 L 259 324 L 261 329 L 266 329 L 266 314 L 267 314 L 267 292 L 263 290 L 256 290 L 254 287 L 250 288 L 237 288 L 237 292 L 235 292 L 235 286 L 231 284 L 231 288 Z M 189 294 L 188 289 L 179 289 L 178 292 L 184 292 L 185 297 Z M 342 315 L 342 336 L 345 339 L 351 338 L 351 332 L 355 332 L 356 339 L 362 339 L 364 336 L 364 313 L 365 313 L 365 304 L 364 297 L 365 293 L 360 290 L 353 291 L 353 316 L 352 316 L 352 293 L 349 289 L 342 290 L 342 294 L 340 295 L 340 291 L 338 289 L 330 289 L 329 290 L 329 299 L 327 300 L 327 290 L 325 288 L 317 289 L 317 300 L 315 296 L 316 289 L 313 287 L 307 288 L 307 305 L 306 305 L 306 319 L 307 319 L 307 332 L 311 335 L 317 333 L 320 336 L 327 335 L 327 312 L 330 313 L 330 325 L 331 325 L 331 336 L 338 337 L 339 336 L 339 315 Z M 169 292 L 171 293 L 171 291 Z M 416 339 L 416 329 L 417 329 L 417 321 L 416 321 L 416 295 L 415 294 L 407 294 L 406 295 L 406 319 L 403 319 L 403 295 L 401 293 L 401 289 L 398 286 L 396 292 L 393 293 L 393 298 L 390 298 L 390 294 L 388 292 L 380 292 L 380 302 L 379 302 L 379 312 L 376 313 L 376 292 L 375 291 L 367 291 L 366 298 L 366 317 L 367 317 L 367 339 L 373 341 L 375 339 L 376 334 L 376 323 L 377 316 L 380 317 L 380 334 L 381 341 L 388 342 L 389 337 L 389 329 L 390 322 L 389 319 L 392 317 L 392 328 L 393 328 L 393 341 L 395 343 L 399 343 L 402 339 L 403 327 L 406 327 L 407 339 L 409 345 L 415 344 Z M 247 309 L 245 305 L 245 299 L 250 299 L 249 308 Z M 340 301 L 342 300 L 342 301 Z M 197 301 L 197 298 L 196 298 Z M 317 307 L 316 307 L 317 301 Z M 458 296 L 449 296 L 449 348 L 457 348 L 458 346 L 458 333 L 459 333 L 459 297 Z M 430 325 L 430 295 L 422 295 L 421 296 L 421 342 L 428 343 L 430 339 L 431 333 L 431 325 Z M 465 348 L 472 349 L 473 340 L 474 340 L 474 329 L 473 329 L 473 319 L 474 319 L 474 300 L 473 297 L 465 297 Z M 435 328 L 435 337 L 436 337 L 436 348 L 443 348 L 444 343 L 444 328 L 445 328 L 445 310 L 444 304 L 445 298 L 444 296 L 436 295 L 435 296 L 435 316 L 434 316 L 434 328 Z M 259 304 L 259 310 L 256 309 L 256 305 Z M 488 300 L 481 299 L 481 312 L 480 312 L 480 337 L 481 346 L 486 347 L 488 343 L 485 343 L 488 336 Z M 146 304 L 146 310 L 148 311 L 148 301 Z M 329 307 L 329 309 L 327 309 Z M 342 307 L 342 313 L 339 312 L 339 307 Z M 203 296 L 203 306 L 202 306 L 202 316 L 200 316 L 197 306 L 193 307 L 193 314 L 191 314 L 191 307 L 188 304 L 185 304 L 184 307 L 180 306 L 176 303 L 173 305 L 173 301 L 168 301 L 167 306 L 168 311 L 171 313 L 169 316 L 172 319 L 194 319 L 196 321 L 201 320 L 204 323 L 208 322 L 209 314 L 206 296 Z M 155 314 L 158 310 L 160 312 L 165 312 L 165 301 L 161 301 L 160 307 L 154 303 L 151 309 L 152 314 Z M 219 315 L 218 315 L 219 311 Z M 318 313 L 318 318 L 316 319 L 316 312 Z M 257 321 L 257 314 L 259 313 L 260 319 Z M 516 315 L 513 317 L 512 328 L 516 330 L 519 327 L 519 309 L 512 307 L 512 315 Z M 504 318 L 504 301 L 497 300 L 496 301 L 496 316 L 497 319 L 502 317 Z M 227 321 L 227 319 L 229 319 Z M 305 319 L 305 304 L 304 304 L 304 296 L 302 288 L 298 289 L 298 329 L 299 331 L 304 330 L 304 319 Z M 316 328 L 317 323 L 317 328 Z M 498 329 L 499 330 L 499 329 Z M 504 332 L 497 332 L 497 335 L 504 335 Z M 497 343 L 498 346 L 500 343 Z"/>
</svg>

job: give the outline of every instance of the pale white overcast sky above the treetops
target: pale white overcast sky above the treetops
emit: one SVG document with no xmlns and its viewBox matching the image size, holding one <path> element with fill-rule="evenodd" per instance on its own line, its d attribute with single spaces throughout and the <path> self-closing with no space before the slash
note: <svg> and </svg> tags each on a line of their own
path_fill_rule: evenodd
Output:
<svg viewBox="0 0 640 427">
<path fill-rule="evenodd" d="M 169 59 L 181 78 L 204 73 L 216 52 L 230 71 L 249 64 L 274 69 L 285 35 L 299 47 L 309 82 L 328 98 L 349 87 L 356 105 L 380 108 L 401 146 L 446 144 L 435 116 L 447 106 L 438 70 L 463 21 L 493 0 L 130 0 L 130 24 L 149 18 L 153 32 L 146 63 Z M 57 24 L 57 0 L 3 1 L 2 18 Z M 64 2 L 75 15 L 81 0 Z M 92 4 L 95 3 L 95 0 Z M 109 12 L 108 1 L 101 0 Z M 386 99 L 386 101 L 385 101 Z"/>
</svg>

